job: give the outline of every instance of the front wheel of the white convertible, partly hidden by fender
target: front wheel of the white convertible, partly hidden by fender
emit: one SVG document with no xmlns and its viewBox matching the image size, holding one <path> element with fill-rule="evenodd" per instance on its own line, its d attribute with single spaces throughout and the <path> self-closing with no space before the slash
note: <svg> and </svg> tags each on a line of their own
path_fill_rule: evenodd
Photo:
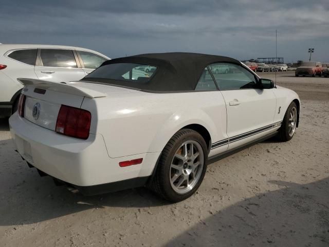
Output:
<svg viewBox="0 0 329 247">
<path fill-rule="evenodd" d="M 287 142 L 288 140 L 291 140 L 293 138 L 296 131 L 297 119 L 297 105 L 293 101 L 290 103 L 286 113 L 284 114 L 282 125 L 279 129 L 279 136 L 282 142 Z M 293 126 L 291 126 L 291 124 Z"/>
</svg>

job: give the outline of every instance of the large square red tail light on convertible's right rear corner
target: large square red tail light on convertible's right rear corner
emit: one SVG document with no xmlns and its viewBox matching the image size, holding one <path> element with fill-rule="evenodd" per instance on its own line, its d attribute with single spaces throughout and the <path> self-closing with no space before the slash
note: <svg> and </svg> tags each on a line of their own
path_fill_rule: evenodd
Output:
<svg viewBox="0 0 329 247">
<path fill-rule="evenodd" d="M 87 139 L 91 121 L 90 112 L 62 104 L 57 116 L 55 131 L 63 135 Z"/>
</svg>

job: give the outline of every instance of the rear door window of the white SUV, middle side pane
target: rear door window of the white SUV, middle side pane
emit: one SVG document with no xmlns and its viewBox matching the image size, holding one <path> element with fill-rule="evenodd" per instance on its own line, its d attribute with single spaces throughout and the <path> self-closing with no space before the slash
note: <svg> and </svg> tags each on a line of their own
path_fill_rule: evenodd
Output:
<svg viewBox="0 0 329 247">
<path fill-rule="evenodd" d="M 72 50 L 41 49 L 40 57 L 45 67 L 77 68 L 76 59 Z"/>
</svg>

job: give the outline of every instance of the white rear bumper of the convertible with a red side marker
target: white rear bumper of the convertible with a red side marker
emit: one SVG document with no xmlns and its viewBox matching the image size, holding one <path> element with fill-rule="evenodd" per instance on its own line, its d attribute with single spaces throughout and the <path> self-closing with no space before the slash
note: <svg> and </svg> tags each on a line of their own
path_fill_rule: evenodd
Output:
<svg viewBox="0 0 329 247">
<path fill-rule="evenodd" d="M 17 113 L 10 117 L 9 125 L 17 152 L 28 163 L 78 189 L 85 188 L 89 191 L 90 188 L 86 187 L 93 186 L 92 194 L 97 193 L 95 190 L 98 188 L 102 190 L 100 192 L 106 192 L 106 186 L 100 185 L 148 177 L 152 174 L 160 154 L 142 153 L 110 158 L 100 134 L 90 134 L 87 140 L 64 136 L 37 126 Z M 119 162 L 135 158 L 143 158 L 142 164 L 119 166 Z M 145 167 L 148 169 L 145 170 Z M 120 189 L 125 187 L 116 188 Z"/>
</svg>

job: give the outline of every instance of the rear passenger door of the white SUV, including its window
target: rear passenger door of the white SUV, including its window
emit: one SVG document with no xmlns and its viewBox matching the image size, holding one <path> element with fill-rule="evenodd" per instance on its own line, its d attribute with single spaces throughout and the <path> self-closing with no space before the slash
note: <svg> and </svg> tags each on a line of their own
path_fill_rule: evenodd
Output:
<svg viewBox="0 0 329 247">
<path fill-rule="evenodd" d="M 78 81 L 85 73 L 70 49 L 38 49 L 34 72 L 40 80 Z"/>
</svg>

